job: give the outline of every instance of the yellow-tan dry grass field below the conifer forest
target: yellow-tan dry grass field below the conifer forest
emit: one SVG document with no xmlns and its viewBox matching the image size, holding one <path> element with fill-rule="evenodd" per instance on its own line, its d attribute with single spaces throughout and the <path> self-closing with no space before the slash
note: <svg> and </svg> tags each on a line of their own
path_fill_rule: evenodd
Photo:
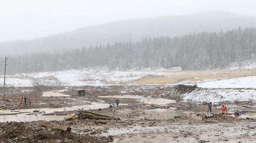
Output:
<svg viewBox="0 0 256 143">
<path fill-rule="evenodd" d="M 163 71 L 161 71 L 163 72 Z M 236 69 L 236 70 L 204 70 L 204 71 L 164 71 L 168 76 L 147 75 L 135 81 L 119 82 L 116 84 L 136 84 L 136 85 L 166 85 L 178 82 L 197 83 L 203 80 L 219 80 L 245 76 L 256 76 L 256 69 Z M 114 83 L 115 84 L 115 83 Z"/>
</svg>

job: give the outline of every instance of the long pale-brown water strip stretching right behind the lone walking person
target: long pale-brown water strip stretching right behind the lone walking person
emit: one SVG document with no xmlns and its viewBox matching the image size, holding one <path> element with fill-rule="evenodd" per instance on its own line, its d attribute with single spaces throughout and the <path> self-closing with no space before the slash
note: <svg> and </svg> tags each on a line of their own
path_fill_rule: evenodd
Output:
<svg viewBox="0 0 256 143">
<path fill-rule="evenodd" d="M 145 104 L 157 104 L 157 105 L 166 105 L 167 103 L 176 103 L 175 100 L 163 99 L 163 98 L 151 98 L 151 97 L 143 97 L 143 96 L 99 96 L 102 98 L 130 98 L 137 99 L 140 102 L 144 102 Z M 120 102 L 122 103 L 122 102 Z"/>
</svg>

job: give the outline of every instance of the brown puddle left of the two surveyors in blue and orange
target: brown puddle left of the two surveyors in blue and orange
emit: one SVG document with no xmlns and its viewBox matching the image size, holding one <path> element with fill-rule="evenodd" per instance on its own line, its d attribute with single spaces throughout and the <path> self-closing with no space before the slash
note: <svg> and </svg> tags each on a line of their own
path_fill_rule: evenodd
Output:
<svg viewBox="0 0 256 143">
<path fill-rule="evenodd" d="M 174 116 L 182 116 L 183 118 L 202 120 L 202 118 L 191 112 L 177 112 L 174 109 L 155 109 L 145 111 L 145 117 L 147 119 L 174 119 Z"/>
</svg>

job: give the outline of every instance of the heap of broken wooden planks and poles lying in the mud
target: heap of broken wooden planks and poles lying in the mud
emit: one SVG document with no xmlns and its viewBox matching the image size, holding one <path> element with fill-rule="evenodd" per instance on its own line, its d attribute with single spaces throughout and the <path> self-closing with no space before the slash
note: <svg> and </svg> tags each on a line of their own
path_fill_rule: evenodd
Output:
<svg viewBox="0 0 256 143">
<path fill-rule="evenodd" d="M 80 110 L 78 109 L 78 116 L 77 118 L 80 119 L 109 119 L 109 120 L 121 120 L 120 118 L 104 115 L 104 114 L 99 114 L 95 112 L 90 112 L 86 110 Z"/>
</svg>

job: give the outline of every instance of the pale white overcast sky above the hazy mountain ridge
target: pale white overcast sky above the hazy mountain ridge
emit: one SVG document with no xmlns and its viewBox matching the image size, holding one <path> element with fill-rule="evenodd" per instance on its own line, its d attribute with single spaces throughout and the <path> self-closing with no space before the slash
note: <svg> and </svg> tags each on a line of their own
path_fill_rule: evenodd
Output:
<svg viewBox="0 0 256 143">
<path fill-rule="evenodd" d="M 131 18 L 228 11 L 256 16 L 256 0 L 0 0 L 0 42 Z"/>
</svg>

